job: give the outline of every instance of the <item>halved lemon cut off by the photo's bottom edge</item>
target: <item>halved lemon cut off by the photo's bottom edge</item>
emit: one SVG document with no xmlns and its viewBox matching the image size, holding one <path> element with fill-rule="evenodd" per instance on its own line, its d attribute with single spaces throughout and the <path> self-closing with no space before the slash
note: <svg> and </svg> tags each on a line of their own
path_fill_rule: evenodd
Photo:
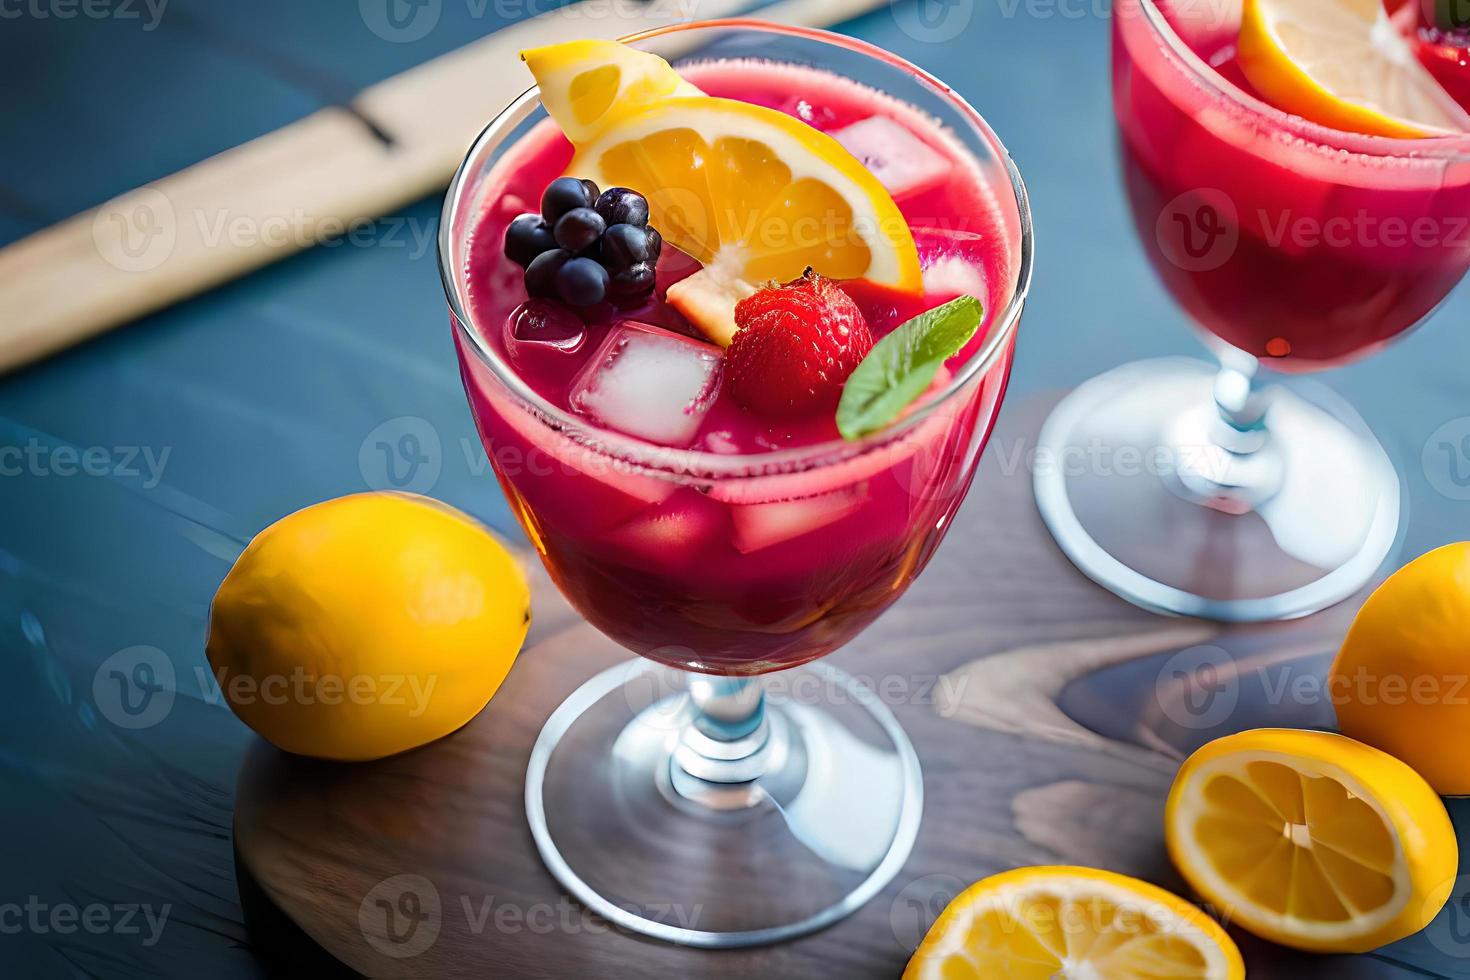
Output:
<svg viewBox="0 0 1470 980">
<path fill-rule="evenodd" d="M 904 980 L 1241 980 L 1241 951 L 1177 895 L 1113 871 L 1017 868 L 960 893 Z"/>
</svg>

